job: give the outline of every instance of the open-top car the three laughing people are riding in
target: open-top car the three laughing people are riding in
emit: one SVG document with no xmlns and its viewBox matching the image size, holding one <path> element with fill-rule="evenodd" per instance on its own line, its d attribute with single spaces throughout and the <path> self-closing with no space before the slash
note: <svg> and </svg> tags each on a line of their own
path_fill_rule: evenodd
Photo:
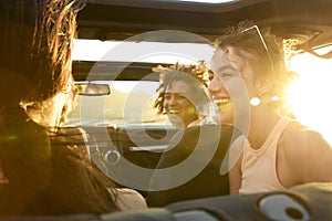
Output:
<svg viewBox="0 0 332 221">
<path fill-rule="evenodd" d="M 297 76 L 287 92 L 292 116 L 332 144 L 331 14 L 331 0 L 86 0 L 79 12 L 72 57 L 75 104 L 56 136 L 63 144 L 77 128 L 84 130 L 84 144 L 74 145 L 87 147 L 95 166 L 116 187 L 138 191 L 151 208 L 37 220 L 331 220 L 328 182 L 229 196 L 228 171 L 222 171 L 228 164 L 217 158 L 227 158 L 228 146 L 241 133 L 230 125 L 219 127 L 218 107 L 205 87 L 200 95 L 207 102 L 198 124 L 203 130 L 177 124 L 181 109 L 168 110 L 158 103 L 160 93 L 173 96 L 162 91 L 163 70 L 204 64 L 210 81 L 214 43 L 222 30 L 252 21 L 258 38 L 262 39 L 259 27 L 267 25 L 288 46 L 286 63 Z M 267 48 L 263 39 L 262 44 Z M 228 138 L 215 144 L 219 135 Z M 195 145 L 215 149 L 198 148 L 170 166 L 159 165 L 166 151 Z M 152 181 L 156 170 L 163 181 Z"/>
</svg>

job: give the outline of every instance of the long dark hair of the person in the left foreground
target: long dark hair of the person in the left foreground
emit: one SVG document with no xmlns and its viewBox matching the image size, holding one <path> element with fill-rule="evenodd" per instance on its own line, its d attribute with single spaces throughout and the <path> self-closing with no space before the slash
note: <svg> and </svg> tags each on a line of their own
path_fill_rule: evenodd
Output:
<svg viewBox="0 0 332 221">
<path fill-rule="evenodd" d="M 0 0 L 0 215 L 120 210 L 115 185 L 92 162 L 81 130 L 50 135 L 17 104 L 33 106 L 71 93 L 71 54 L 83 6 Z M 13 104 L 4 103 L 7 97 Z"/>
</svg>

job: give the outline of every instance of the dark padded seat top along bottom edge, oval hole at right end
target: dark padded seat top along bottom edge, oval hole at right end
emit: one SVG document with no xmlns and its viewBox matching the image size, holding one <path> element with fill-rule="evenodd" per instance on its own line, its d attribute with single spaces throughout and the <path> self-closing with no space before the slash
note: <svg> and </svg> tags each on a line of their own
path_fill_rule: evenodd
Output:
<svg viewBox="0 0 332 221">
<path fill-rule="evenodd" d="M 308 183 L 288 191 L 221 196 L 110 214 L 8 217 L 4 221 L 321 221 L 332 220 L 332 183 Z"/>
</svg>

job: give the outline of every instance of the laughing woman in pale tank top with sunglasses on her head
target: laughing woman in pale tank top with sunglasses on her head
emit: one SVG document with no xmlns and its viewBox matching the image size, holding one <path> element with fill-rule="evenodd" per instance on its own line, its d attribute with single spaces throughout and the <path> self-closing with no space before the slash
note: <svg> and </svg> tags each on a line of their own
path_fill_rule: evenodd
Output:
<svg viewBox="0 0 332 221">
<path fill-rule="evenodd" d="M 283 54 L 281 41 L 248 21 L 216 42 L 209 91 L 221 119 L 245 134 L 230 148 L 230 193 L 332 181 L 332 148 L 286 112 L 286 87 L 294 74 Z"/>
</svg>

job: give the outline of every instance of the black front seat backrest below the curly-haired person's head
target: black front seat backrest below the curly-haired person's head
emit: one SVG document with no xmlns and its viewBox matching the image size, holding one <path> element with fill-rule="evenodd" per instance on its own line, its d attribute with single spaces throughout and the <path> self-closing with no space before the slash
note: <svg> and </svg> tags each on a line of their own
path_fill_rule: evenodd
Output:
<svg viewBox="0 0 332 221">
<path fill-rule="evenodd" d="M 174 182 L 183 175 L 165 176 L 158 169 L 170 168 L 183 162 L 188 157 L 190 162 L 185 172 L 193 172 L 194 166 L 201 164 L 210 156 L 208 164 L 201 168 L 197 176 L 187 182 L 160 191 L 149 191 L 147 203 L 149 207 L 163 207 L 165 204 L 199 199 L 206 197 L 229 193 L 228 173 L 220 175 L 221 162 L 225 159 L 231 140 L 239 136 L 239 131 L 230 125 L 204 125 L 187 128 L 183 134 L 177 134 L 173 141 L 174 147 L 164 152 L 152 178 L 151 186 L 157 183 Z M 173 144 L 170 144 L 172 146 Z M 216 148 L 214 146 L 217 146 Z M 215 148 L 215 149 L 214 149 Z M 193 151 L 197 150 L 195 157 Z"/>
</svg>

